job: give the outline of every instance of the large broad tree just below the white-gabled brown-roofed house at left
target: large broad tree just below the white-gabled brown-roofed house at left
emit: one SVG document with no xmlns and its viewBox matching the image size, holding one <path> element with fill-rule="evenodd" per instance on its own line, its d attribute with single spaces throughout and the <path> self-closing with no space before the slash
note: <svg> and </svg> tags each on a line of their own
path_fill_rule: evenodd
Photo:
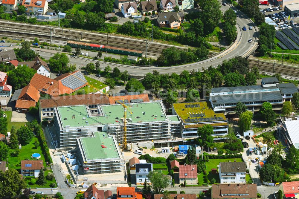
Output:
<svg viewBox="0 0 299 199">
<path fill-rule="evenodd" d="M 30 50 L 32 51 L 32 50 Z M 29 68 L 26 65 L 18 66 L 9 73 L 7 83 L 11 85 L 15 90 L 24 88 L 27 86 L 36 71 L 33 68 Z"/>
</svg>

